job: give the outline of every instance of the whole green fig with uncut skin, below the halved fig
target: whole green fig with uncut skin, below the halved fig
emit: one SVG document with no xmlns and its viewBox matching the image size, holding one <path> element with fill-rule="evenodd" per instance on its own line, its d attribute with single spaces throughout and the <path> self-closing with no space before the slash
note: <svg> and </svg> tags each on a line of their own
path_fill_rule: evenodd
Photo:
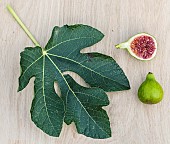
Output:
<svg viewBox="0 0 170 144">
<path fill-rule="evenodd" d="M 157 104 L 163 99 L 162 86 L 156 81 L 153 73 L 149 72 L 146 80 L 138 89 L 138 98 L 145 104 Z"/>
</svg>

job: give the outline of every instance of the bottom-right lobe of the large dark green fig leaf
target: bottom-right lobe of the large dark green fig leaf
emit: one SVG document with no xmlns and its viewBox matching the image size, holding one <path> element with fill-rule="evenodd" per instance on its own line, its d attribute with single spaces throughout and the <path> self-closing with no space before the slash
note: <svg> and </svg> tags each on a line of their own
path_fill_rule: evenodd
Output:
<svg viewBox="0 0 170 144">
<path fill-rule="evenodd" d="M 109 138 L 111 129 L 109 117 L 102 106 L 109 100 L 100 88 L 85 88 L 77 84 L 69 75 L 65 76 L 72 92 L 67 97 L 65 122 L 75 122 L 77 131 L 92 138 Z"/>
</svg>

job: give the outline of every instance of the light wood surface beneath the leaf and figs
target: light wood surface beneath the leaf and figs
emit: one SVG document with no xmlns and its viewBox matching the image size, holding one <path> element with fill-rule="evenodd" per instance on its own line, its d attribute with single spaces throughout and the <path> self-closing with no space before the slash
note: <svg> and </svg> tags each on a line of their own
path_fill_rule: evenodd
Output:
<svg viewBox="0 0 170 144">
<path fill-rule="evenodd" d="M 64 124 L 60 137 L 53 138 L 34 125 L 30 117 L 34 79 L 17 93 L 19 54 L 34 45 L 6 10 L 7 3 L 42 46 L 55 25 L 83 23 L 105 34 L 100 43 L 84 51 L 112 56 L 131 84 L 131 90 L 108 93 L 111 138 L 87 138 L 76 132 L 74 124 Z M 152 61 L 141 62 L 114 47 L 139 32 L 148 32 L 158 41 Z M 144 105 L 137 98 L 138 87 L 149 71 L 165 92 L 157 105 Z M 1 144 L 170 144 L 170 0 L 1 0 L 0 80 Z"/>
</svg>

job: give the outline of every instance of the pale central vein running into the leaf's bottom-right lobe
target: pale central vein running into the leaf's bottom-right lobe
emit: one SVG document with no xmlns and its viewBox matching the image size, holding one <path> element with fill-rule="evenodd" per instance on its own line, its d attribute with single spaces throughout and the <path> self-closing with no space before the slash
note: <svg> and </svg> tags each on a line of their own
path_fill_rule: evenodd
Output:
<svg viewBox="0 0 170 144">
<path fill-rule="evenodd" d="M 69 86 L 68 82 L 66 81 L 66 79 L 64 78 L 62 72 L 60 71 L 60 69 L 57 67 L 57 65 L 53 62 L 53 60 L 48 56 L 48 54 L 46 55 L 49 60 L 51 61 L 51 63 L 54 65 L 54 67 L 57 69 L 57 71 L 61 74 L 62 78 L 64 79 L 66 85 L 68 86 L 69 90 L 73 93 L 73 95 L 76 97 L 77 101 L 80 103 L 80 105 L 82 106 L 82 108 L 85 110 L 85 112 L 87 113 L 87 115 L 92 119 L 92 121 L 97 125 L 97 127 L 99 127 L 99 129 L 101 129 L 104 133 L 106 133 L 105 130 L 103 130 L 103 128 L 101 128 L 96 121 L 89 115 L 89 113 L 87 112 L 87 110 L 85 109 L 85 107 L 82 105 L 82 103 L 80 102 L 80 100 L 77 98 L 77 96 L 75 95 L 74 91 L 71 89 L 71 87 Z M 68 95 L 67 95 L 68 96 Z M 108 133 L 106 133 L 107 135 L 109 135 Z"/>
</svg>

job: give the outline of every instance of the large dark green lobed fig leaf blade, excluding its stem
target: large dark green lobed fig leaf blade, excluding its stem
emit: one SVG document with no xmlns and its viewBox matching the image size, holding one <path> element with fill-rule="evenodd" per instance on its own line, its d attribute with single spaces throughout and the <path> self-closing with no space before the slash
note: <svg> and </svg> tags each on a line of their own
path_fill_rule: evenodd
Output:
<svg viewBox="0 0 170 144">
<path fill-rule="evenodd" d="M 130 89 L 129 81 L 111 57 L 80 53 L 103 36 L 87 25 L 56 26 L 45 48 L 25 48 L 21 52 L 18 90 L 23 90 L 35 77 L 31 118 L 45 133 L 59 136 L 65 121 L 67 124 L 75 122 L 78 132 L 86 136 L 110 137 L 109 119 L 102 109 L 108 105 L 104 91 Z M 66 71 L 77 73 L 91 87 L 84 88 L 70 76 L 64 76 Z M 59 85 L 61 97 L 55 92 L 55 82 Z"/>
</svg>

